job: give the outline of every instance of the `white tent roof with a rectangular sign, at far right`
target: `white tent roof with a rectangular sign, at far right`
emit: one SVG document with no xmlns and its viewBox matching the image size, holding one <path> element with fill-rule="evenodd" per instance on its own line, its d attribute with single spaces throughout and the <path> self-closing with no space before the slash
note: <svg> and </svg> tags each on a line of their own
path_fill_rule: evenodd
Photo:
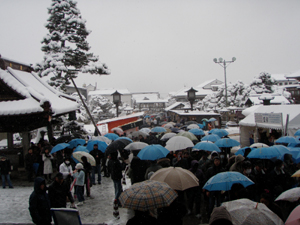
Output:
<svg viewBox="0 0 300 225">
<path fill-rule="evenodd" d="M 253 109 L 251 109 L 253 107 Z M 240 121 L 242 126 L 254 127 L 255 123 L 254 114 L 255 113 L 282 113 L 283 127 L 286 124 L 286 116 L 289 114 L 289 129 L 300 129 L 300 105 L 260 105 L 252 106 L 248 110 L 248 115 L 245 119 Z M 243 111 L 244 114 L 245 110 Z M 245 115 L 245 114 L 244 114 Z M 271 129 L 282 129 L 281 124 L 270 124 L 270 123 L 260 123 L 259 127 L 271 128 Z"/>
</svg>

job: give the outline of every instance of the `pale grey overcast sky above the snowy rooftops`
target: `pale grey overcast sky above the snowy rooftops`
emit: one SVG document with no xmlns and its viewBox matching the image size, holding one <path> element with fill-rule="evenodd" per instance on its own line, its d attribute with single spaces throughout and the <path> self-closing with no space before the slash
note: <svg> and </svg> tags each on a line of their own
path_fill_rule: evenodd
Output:
<svg viewBox="0 0 300 225">
<path fill-rule="evenodd" d="M 237 60 L 227 80 L 250 83 L 261 71 L 300 69 L 299 0 L 78 0 L 91 52 L 109 76 L 76 83 L 130 92 L 177 91 L 217 78 L 213 58 Z M 25 63 L 43 59 L 50 0 L 0 0 L 0 54 Z"/>
</svg>

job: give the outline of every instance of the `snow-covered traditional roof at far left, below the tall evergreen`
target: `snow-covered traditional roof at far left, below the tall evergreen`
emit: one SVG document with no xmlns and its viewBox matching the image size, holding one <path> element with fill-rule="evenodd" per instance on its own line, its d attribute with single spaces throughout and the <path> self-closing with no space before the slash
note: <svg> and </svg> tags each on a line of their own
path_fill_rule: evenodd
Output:
<svg viewBox="0 0 300 225">
<path fill-rule="evenodd" d="M 0 102 L 0 115 L 42 112 L 41 105 L 45 101 L 51 104 L 54 116 L 75 111 L 78 108 L 74 98 L 50 87 L 33 72 L 28 73 L 8 67 L 6 71 L 0 69 L 0 79 L 24 97 L 24 100 Z"/>
</svg>

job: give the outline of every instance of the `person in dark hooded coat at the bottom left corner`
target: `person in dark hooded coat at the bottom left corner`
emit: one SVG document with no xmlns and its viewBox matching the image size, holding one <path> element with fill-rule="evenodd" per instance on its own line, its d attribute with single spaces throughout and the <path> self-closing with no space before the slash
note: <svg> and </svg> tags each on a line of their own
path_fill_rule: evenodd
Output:
<svg viewBox="0 0 300 225">
<path fill-rule="evenodd" d="M 34 191 L 29 197 L 29 212 L 35 224 L 51 224 L 50 201 L 46 193 L 45 179 L 42 177 L 37 177 L 34 181 Z"/>
</svg>

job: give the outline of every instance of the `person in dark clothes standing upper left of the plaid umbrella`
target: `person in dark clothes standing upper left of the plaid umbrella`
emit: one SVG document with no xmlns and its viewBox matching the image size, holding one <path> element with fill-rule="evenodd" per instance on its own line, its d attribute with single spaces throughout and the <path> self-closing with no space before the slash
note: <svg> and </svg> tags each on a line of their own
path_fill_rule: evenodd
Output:
<svg viewBox="0 0 300 225">
<path fill-rule="evenodd" d="M 111 179 L 114 182 L 115 188 L 115 199 L 117 199 L 118 204 L 120 204 L 119 197 L 123 192 L 122 188 L 122 164 L 118 160 L 118 152 L 110 153 L 110 159 L 108 161 L 108 170 L 111 175 Z"/>
</svg>

